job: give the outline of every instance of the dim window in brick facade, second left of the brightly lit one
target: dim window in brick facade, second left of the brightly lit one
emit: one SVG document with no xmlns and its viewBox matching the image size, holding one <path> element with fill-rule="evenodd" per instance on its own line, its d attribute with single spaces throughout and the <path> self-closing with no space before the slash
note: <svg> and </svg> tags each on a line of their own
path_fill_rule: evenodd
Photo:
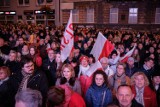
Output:
<svg viewBox="0 0 160 107">
<path fill-rule="evenodd" d="M 87 23 L 94 23 L 94 9 L 87 9 Z"/>
</svg>

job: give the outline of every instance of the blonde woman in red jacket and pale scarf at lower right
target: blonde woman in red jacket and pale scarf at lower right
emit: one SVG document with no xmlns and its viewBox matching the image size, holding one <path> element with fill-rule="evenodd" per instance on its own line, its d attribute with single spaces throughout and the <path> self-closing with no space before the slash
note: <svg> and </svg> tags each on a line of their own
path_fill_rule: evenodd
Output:
<svg viewBox="0 0 160 107">
<path fill-rule="evenodd" d="M 158 107 L 156 93 L 151 90 L 149 80 L 143 72 L 136 72 L 131 77 L 132 92 L 138 103 L 144 107 Z"/>
</svg>

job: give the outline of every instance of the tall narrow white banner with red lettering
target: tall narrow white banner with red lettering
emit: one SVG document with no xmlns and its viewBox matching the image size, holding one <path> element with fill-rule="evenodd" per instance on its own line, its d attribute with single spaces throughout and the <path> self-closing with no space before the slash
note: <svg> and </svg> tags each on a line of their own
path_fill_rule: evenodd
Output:
<svg viewBox="0 0 160 107">
<path fill-rule="evenodd" d="M 61 40 L 61 60 L 64 62 L 70 55 L 74 44 L 72 11 L 70 12 L 69 21 L 67 23 L 63 38 Z"/>
</svg>

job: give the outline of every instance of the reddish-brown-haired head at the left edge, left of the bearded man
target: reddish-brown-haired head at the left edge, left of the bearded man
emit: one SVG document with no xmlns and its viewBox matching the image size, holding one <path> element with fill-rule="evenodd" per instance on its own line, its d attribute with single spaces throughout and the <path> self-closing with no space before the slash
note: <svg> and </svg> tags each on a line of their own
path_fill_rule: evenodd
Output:
<svg viewBox="0 0 160 107">
<path fill-rule="evenodd" d="M 10 70 L 8 67 L 6 66 L 2 66 L 0 67 L 0 80 L 4 80 L 6 79 L 7 77 L 10 76 Z"/>
</svg>

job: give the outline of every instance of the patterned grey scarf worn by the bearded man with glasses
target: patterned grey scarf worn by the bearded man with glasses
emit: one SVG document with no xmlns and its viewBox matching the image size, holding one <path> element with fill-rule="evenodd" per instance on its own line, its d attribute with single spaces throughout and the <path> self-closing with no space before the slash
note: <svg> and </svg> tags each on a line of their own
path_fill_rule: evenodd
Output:
<svg viewBox="0 0 160 107">
<path fill-rule="evenodd" d="M 21 71 L 23 75 L 23 79 L 19 85 L 18 91 L 25 90 L 27 88 L 28 79 L 32 76 L 32 74 L 27 74 L 23 70 Z"/>
</svg>

